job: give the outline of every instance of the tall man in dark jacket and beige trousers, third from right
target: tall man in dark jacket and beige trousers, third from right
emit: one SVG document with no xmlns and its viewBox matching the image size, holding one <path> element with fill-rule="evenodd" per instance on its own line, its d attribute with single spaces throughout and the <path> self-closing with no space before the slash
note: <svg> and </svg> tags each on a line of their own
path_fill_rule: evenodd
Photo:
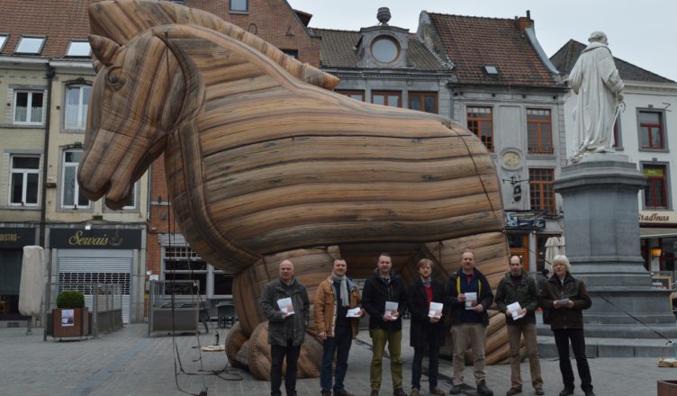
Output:
<svg viewBox="0 0 677 396">
<path fill-rule="evenodd" d="M 489 315 L 486 310 L 493 302 L 492 285 L 486 276 L 474 267 L 472 250 L 464 249 L 461 255 L 461 268 L 451 275 L 447 284 L 447 295 L 451 306 L 451 338 L 454 342 L 454 377 L 449 393 L 461 392 L 465 351 L 471 347 L 475 356 L 474 379 L 477 394 L 492 396 L 493 391 L 486 386 L 484 371 L 486 327 L 489 326 Z"/>
</svg>

